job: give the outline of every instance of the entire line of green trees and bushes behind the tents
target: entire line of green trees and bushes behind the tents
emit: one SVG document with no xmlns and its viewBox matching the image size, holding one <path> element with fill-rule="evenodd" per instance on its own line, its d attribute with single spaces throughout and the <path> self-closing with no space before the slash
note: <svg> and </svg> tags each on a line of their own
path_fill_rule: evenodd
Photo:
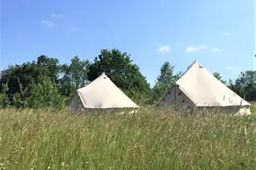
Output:
<svg viewBox="0 0 256 170">
<path fill-rule="evenodd" d="M 131 55 L 118 49 L 102 49 L 93 62 L 74 56 L 70 64 L 42 55 L 32 62 L 11 65 L 0 72 L 0 108 L 61 108 L 75 91 L 96 79 L 102 72 L 137 104 L 153 104 L 181 77 L 174 66 L 164 62 L 154 86 L 146 81 Z M 256 99 L 256 71 L 241 72 L 238 78 L 224 81 L 213 75 L 245 100 Z"/>
</svg>

